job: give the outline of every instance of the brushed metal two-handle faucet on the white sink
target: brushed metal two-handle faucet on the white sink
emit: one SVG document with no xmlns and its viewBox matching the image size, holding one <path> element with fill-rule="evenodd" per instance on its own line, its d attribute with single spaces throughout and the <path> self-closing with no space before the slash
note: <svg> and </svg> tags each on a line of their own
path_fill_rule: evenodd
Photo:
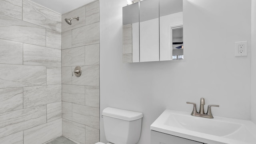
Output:
<svg viewBox="0 0 256 144">
<path fill-rule="evenodd" d="M 195 103 L 193 103 L 193 102 L 187 102 L 187 104 L 193 104 L 193 105 L 194 105 L 193 111 L 191 112 L 191 115 L 192 115 L 192 116 L 199 116 L 199 117 L 203 117 L 203 118 L 213 118 L 211 107 L 212 107 L 212 106 L 220 107 L 219 105 L 210 104 L 210 105 L 208 105 L 208 110 L 207 110 L 207 112 L 204 113 L 204 105 L 205 105 L 204 98 L 201 98 L 201 100 L 200 100 L 200 109 L 199 109 L 199 112 L 197 112 L 197 110 L 196 110 L 196 104 L 195 104 Z"/>
</svg>

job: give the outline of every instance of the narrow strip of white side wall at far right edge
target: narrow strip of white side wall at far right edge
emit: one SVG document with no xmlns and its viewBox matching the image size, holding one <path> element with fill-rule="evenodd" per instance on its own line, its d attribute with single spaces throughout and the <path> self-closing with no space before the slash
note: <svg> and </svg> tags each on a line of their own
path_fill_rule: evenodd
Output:
<svg viewBox="0 0 256 144">
<path fill-rule="evenodd" d="M 252 0 L 251 119 L 256 123 L 256 0 Z"/>
</svg>

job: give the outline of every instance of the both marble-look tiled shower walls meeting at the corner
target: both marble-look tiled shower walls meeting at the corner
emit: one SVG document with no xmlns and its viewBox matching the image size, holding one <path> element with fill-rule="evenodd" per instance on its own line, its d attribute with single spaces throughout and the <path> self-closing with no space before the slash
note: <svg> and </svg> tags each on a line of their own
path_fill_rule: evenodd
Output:
<svg viewBox="0 0 256 144">
<path fill-rule="evenodd" d="M 74 16 L 80 21 L 66 24 Z M 0 0 L 0 19 L 0 143 L 62 135 L 98 142 L 99 2 L 61 15 L 28 0 Z"/>
</svg>

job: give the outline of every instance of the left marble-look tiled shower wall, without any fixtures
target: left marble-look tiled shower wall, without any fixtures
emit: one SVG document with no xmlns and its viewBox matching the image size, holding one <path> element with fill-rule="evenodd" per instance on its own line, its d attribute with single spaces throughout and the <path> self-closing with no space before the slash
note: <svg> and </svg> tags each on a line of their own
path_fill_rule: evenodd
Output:
<svg viewBox="0 0 256 144">
<path fill-rule="evenodd" d="M 0 0 L 0 19 L 0 143 L 62 135 L 61 15 L 27 0 Z"/>
</svg>

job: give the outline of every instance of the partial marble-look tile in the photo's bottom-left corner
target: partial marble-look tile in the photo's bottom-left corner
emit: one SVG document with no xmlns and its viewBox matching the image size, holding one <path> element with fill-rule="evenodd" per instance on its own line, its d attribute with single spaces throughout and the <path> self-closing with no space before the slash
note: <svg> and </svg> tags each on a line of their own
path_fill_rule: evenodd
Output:
<svg viewBox="0 0 256 144">
<path fill-rule="evenodd" d="M 23 132 L 17 132 L 0 138 L 1 144 L 23 144 Z"/>
</svg>

